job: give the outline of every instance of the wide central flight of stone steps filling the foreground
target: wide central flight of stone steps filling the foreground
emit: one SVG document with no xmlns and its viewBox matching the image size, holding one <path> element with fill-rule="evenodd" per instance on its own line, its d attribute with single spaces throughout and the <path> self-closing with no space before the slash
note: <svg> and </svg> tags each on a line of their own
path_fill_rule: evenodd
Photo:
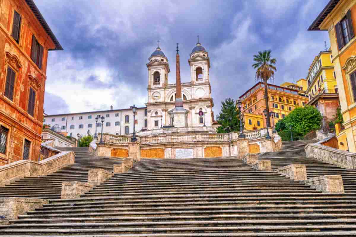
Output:
<svg viewBox="0 0 356 237">
<path fill-rule="evenodd" d="M 142 159 L 81 198 L 10 220 L 0 236 L 354 236 L 355 198 L 233 157 Z"/>
</svg>

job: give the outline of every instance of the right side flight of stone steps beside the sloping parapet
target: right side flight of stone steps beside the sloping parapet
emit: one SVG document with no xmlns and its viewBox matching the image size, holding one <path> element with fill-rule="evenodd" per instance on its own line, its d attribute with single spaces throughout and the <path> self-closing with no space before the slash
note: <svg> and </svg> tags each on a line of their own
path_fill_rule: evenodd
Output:
<svg viewBox="0 0 356 237">
<path fill-rule="evenodd" d="M 258 159 L 271 160 L 272 170 L 292 163 L 305 165 L 307 178 L 314 178 L 326 174 L 341 175 L 345 192 L 356 193 L 356 169 L 345 169 L 316 158 L 306 157 L 305 145 L 315 142 L 315 140 L 284 141 L 280 151 L 260 153 Z"/>
</svg>

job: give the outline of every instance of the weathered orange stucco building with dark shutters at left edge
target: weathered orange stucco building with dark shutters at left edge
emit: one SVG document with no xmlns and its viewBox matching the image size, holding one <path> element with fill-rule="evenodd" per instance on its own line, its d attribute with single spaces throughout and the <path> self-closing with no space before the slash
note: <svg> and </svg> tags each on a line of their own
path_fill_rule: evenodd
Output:
<svg viewBox="0 0 356 237">
<path fill-rule="evenodd" d="M 32 0 L 0 0 L 0 166 L 40 153 L 47 55 L 61 45 Z"/>
</svg>

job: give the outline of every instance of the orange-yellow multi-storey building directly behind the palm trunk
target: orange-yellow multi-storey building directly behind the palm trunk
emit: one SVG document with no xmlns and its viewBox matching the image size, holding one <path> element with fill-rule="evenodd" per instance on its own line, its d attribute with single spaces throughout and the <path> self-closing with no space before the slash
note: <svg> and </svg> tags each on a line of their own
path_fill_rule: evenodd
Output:
<svg viewBox="0 0 356 237">
<path fill-rule="evenodd" d="M 284 118 L 298 106 L 304 107 L 308 98 L 304 92 L 291 87 L 268 84 L 268 105 L 271 113 L 271 125 L 274 126 L 279 119 Z M 244 114 L 245 129 L 256 130 L 266 128 L 265 85 L 258 82 L 240 96 L 242 103 L 241 112 Z"/>
</svg>

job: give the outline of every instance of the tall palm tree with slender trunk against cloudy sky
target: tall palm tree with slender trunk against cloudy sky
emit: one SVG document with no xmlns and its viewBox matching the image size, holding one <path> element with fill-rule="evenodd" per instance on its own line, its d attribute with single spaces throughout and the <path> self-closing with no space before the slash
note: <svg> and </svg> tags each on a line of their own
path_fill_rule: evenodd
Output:
<svg viewBox="0 0 356 237">
<path fill-rule="evenodd" d="M 277 68 L 274 66 L 276 64 L 276 59 L 271 58 L 271 50 L 259 51 L 257 55 L 253 55 L 254 64 L 252 67 L 256 70 L 256 81 L 263 81 L 265 84 L 265 102 L 267 110 L 267 128 L 271 127 L 271 122 L 269 121 L 269 106 L 268 106 L 268 88 L 267 81 L 274 80 L 274 72 L 277 71 Z"/>
</svg>

